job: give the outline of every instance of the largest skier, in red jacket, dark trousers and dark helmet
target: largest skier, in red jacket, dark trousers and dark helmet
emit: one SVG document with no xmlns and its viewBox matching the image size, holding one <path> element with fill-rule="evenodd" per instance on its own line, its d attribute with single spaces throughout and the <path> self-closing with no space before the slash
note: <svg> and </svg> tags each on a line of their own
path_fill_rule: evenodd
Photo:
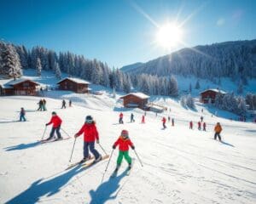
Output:
<svg viewBox="0 0 256 204">
<path fill-rule="evenodd" d="M 79 130 L 78 133 L 74 135 L 75 138 L 79 137 L 82 133 L 84 133 L 84 158 L 81 162 L 88 161 L 91 159 L 89 154 L 90 152 L 93 154 L 95 158 L 95 162 L 102 160 L 102 156 L 95 149 L 95 141 L 97 144 L 100 143 L 99 133 L 96 128 L 96 122 L 93 120 L 92 116 L 86 116 L 83 127 Z"/>
</svg>

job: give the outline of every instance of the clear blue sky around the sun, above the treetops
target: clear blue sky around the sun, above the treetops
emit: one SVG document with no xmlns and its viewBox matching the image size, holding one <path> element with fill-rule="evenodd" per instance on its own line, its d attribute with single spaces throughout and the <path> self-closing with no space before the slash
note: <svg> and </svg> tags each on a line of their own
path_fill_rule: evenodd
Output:
<svg viewBox="0 0 256 204">
<path fill-rule="evenodd" d="M 110 66 L 145 62 L 174 50 L 256 38 L 253 0 L 0 0 L 0 39 L 84 54 Z M 183 22 L 183 42 L 155 43 L 157 26 Z"/>
</svg>

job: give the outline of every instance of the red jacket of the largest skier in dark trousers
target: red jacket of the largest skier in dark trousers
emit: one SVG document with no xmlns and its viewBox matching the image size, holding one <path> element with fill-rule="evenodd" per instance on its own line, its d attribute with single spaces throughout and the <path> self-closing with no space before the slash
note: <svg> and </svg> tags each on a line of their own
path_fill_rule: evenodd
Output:
<svg viewBox="0 0 256 204">
<path fill-rule="evenodd" d="M 95 124 L 84 123 L 79 133 L 76 134 L 80 136 L 82 133 L 84 133 L 84 142 L 94 142 L 96 139 L 99 139 L 99 133 Z"/>
</svg>

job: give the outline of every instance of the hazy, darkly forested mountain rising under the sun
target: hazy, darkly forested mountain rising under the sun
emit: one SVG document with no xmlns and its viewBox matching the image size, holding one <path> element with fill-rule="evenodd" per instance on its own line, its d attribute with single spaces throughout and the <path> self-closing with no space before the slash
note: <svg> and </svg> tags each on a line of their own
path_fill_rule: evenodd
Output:
<svg viewBox="0 0 256 204">
<path fill-rule="evenodd" d="M 172 54 L 153 59 L 134 69 L 122 71 L 157 76 L 194 76 L 212 82 L 221 77 L 234 81 L 256 77 L 256 40 L 222 42 L 195 48 L 183 48 Z M 129 67 L 129 65 L 128 65 Z"/>
</svg>

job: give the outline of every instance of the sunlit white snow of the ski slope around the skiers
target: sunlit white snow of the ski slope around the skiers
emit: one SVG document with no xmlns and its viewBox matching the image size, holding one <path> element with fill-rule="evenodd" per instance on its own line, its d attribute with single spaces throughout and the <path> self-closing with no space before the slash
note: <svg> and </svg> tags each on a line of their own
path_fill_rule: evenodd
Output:
<svg viewBox="0 0 256 204">
<path fill-rule="evenodd" d="M 0 98 L 0 203 L 256 203 L 256 126 L 252 122 L 232 122 L 206 109 L 201 113 L 181 107 L 172 99 L 154 99 L 166 103 L 175 118 L 162 129 L 161 116 L 143 111 L 124 111 L 108 92 L 101 96 L 50 92 L 48 111 L 36 111 L 38 97 Z M 80 97 L 79 97 L 80 96 Z M 56 99 L 53 99 L 53 98 Z M 61 98 L 74 99 L 73 107 L 61 110 Z M 26 109 L 28 122 L 16 122 L 20 107 Z M 51 111 L 61 116 L 62 128 L 73 136 L 84 123 L 84 117 L 96 119 L 102 147 L 112 151 L 112 144 L 122 129 L 127 129 L 143 161 L 135 159 L 130 176 L 125 175 L 126 161 L 116 178 L 110 178 L 116 165 L 114 150 L 108 161 L 88 169 L 73 167 L 65 171 L 74 139 L 39 144 Z M 119 111 L 124 112 L 123 125 L 118 124 Z M 130 123 L 131 111 L 136 122 Z M 189 130 L 189 121 L 204 116 L 207 132 Z M 225 114 L 225 112 L 223 112 Z M 224 143 L 212 139 L 216 122 L 223 126 Z M 50 127 L 45 137 L 49 136 Z M 67 135 L 61 131 L 63 137 Z M 83 139 L 77 139 L 73 162 L 83 156 Z M 103 151 L 96 144 L 102 155 Z"/>
</svg>

